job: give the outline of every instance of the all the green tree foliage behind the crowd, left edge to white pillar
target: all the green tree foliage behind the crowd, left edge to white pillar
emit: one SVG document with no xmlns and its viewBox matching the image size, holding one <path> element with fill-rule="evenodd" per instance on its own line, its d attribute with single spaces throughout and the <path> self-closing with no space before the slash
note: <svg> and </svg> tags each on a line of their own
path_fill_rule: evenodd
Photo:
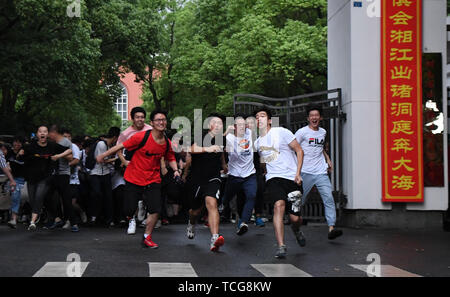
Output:
<svg viewBox="0 0 450 297">
<path fill-rule="evenodd" d="M 74 1 L 73 1 L 74 2 Z M 170 116 L 232 111 L 236 93 L 326 88 L 326 0 L 0 1 L 0 133 L 104 133 L 120 75 Z"/>
</svg>

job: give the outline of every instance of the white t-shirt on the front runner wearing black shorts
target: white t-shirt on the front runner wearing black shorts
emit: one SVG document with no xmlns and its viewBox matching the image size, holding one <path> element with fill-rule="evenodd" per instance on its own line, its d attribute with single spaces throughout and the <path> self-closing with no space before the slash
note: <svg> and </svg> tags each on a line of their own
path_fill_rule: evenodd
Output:
<svg viewBox="0 0 450 297">
<path fill-rule="evenodd" d="M 274 177 L 295 181 L 297 155 L 289 147 L 293 140 L 295 136 L 291 131 L 274 127 L 255 141 L 255 149 L 261 157 L 261 163 L 266 163 L 266 181 Z"/>
</svg>

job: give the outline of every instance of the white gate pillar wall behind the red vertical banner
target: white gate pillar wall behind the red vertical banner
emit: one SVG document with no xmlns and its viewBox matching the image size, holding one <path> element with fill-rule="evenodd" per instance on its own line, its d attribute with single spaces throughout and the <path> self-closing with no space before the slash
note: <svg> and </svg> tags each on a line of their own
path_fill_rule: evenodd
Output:
<svg viewBox="0 0 450 297">
<path fill-rule="evenodd" d="M 328 89 L 342 88 L 343 110 L 347 113 L 343 126 L 346 208 L 391 209 L 391 203 L 381 202 L 381 19 L 369 17 L 367 13 L 373 1 L 362 2 L 360 8 L 353 7 L 353 1 L 328 1 Z M 423 2 L 425 51 L 442 51 L 445 61 L 446 32 L 441 34 L 446 30 L 445 0 Z M 447 139 L 444 143 L 447 144 Z M 447 152 L 447 146 L 444 151 Z M 426 188 L 425 203 L 410 204 L 408 209 L 446 210 L 447 175 L 445 179 L 444 188 Z"/>
</svg>

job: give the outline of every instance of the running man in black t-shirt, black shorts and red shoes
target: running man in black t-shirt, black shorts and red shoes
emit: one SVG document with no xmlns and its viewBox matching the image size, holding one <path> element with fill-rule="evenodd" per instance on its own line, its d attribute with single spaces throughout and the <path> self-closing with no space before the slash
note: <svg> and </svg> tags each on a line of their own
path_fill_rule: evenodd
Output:
<svg viewBox="0 0 450 297">
<path fill-rule="evenodd" d="M 227 165 L 223 152 L 223 116 L 214 113 L 208 118 L 209 130 L 202 135 L 203 144 L 194 140 L 190 151 L 191 161 L 185 169 L 190 170 L 186 181 L 190 202 L 187 236 L 189 239 L 194 238 L 195 222 L 206 205 L 211 232 L 210 250 L 218 252 L 225 243 L 223 236 L 219 235 L 220 216 L 217 207 L 220 197 L 220 171 L 223 169 L 227 172 Z"/>
</svg>

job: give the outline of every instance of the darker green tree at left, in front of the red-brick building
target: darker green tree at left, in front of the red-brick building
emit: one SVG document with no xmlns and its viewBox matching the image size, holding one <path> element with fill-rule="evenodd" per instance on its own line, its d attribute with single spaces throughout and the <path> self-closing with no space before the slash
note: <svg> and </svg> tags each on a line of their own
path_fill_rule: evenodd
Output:
<svg viewBox="0 0 450 297">
<path fill-rule="evenodd" d="M 149 6 L 151 3 L 153 6 Z M 0 133 L 58 123 L 74 133 L 117 125 L 119 75 L 158 47 L 158 1 L 0 3 Z"/>
</svg>

